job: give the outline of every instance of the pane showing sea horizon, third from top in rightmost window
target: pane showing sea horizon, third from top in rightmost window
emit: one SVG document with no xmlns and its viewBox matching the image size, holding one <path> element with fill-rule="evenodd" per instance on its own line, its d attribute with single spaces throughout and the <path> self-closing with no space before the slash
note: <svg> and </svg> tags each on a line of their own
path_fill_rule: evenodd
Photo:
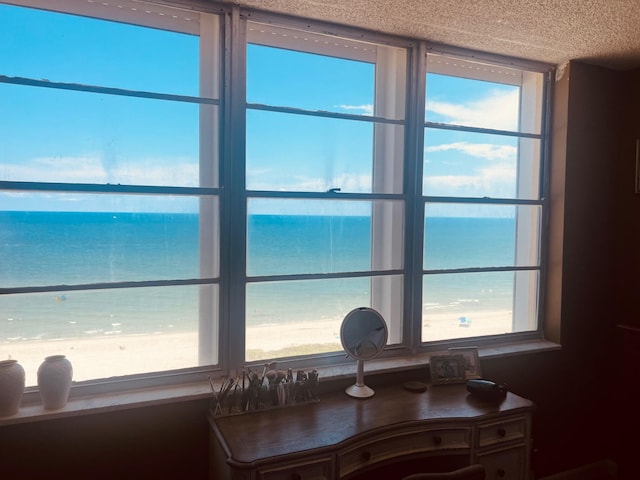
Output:
<svg viewBox="0 0 640 480">
<path fill-rule="evenodd" d="M 424 269 L 537 266 L 539 209 L 428 204 Z"/>
</svg>

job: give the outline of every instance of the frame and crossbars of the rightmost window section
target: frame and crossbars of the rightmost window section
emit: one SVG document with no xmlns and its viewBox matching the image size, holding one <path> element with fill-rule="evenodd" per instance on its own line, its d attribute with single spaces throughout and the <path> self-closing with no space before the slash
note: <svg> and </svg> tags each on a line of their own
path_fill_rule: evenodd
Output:
<svg viewBox="0 0 640 480">
<path fill-rule="evenodd" d="M 518 129 L 514 131 L 508 130 L 497 130 L 494 128 L 486 128 L 479 126 L 468 126 L 468 125 L 448 125 L 441 124 L 437 122 L 431 122 L 426 120 L 425 112 L 422 112 L 422 118 L 424 119 L 423 124 L 424 128 L 435 128 L 435 129 L 444 129 L 444 130 L 453 130 L 457 132 L 466 132 L 466 133 L 481 133 L 481 134 L 496 134 L 504 137 L 513 137 L 517 138 L 518 141 L 521 139 L 533 139 L 539 140 L 540 145 L 538 147 L 539 150 L 539 160 L 538 160 L 538 175 L 537 175 L 537 187 L 538 191 L 536 192 L 536 198 L 520 198 L 518 194 L 513 198 L 498 198 L 498 197 L 454 197 L 454 196 L 442 196 L 442 195 L 427 195 L 424 194 L 422 199 L 422 216 L 416 217 L 417 225 L 422 225 L 424 221 L 424 209 L 425 206 L 429 203 L 431 204 L 442 204 L 442 203 L 456 203 L 456 204 L 468 204 L 468 205 L 505 205 L 505 206 L 532 206 L 540 208 L 540 215 L 538 219 L 538 235 L 537 235 L 537 250 L 536 256 L 538 257 L 537 265 L 530 266 L 518 266 L 517 261 L 514 263 L 513 267 L 510 268 L 500 268 L 500 267 L 486 267 L 486 268 L 457 268 L 451 269 L 450 272 L 456 273 L 471 273 L 471 272 L 499 272 L 499 271 L 510 271 L 514 272 L 514 274 L 522 272 L 538 272 L 538 282 L 537 282 L 537 294 L 533 299 L 535 302 L 534 305 L 531 302 L 526 302 L 522 300 L 523 296 L 526 296 L 526 292 L 532 288 L 529 279 L 525 282 L 522 281 L 521 278 L 514 279 L 514 293 L 513 293 L 513 319 L 512 322 L 514 326 L 518 324 L 522 328 L 527 328 L 525 323 L 531 321 L 531 317 L 529 315 L 525 315 L 523 313 L 524 310 L 534 308 L 535 312 L 535 328 L 527 328 L 524 331 L 516 331 L 512 333 L 506 334 L 497 334 L 488 337 L 472 337 L 472 338 L 458 338 L 458 339 L 446 339 L 446 340 L 436 340 L 433 342 L 428 342 L 428 344 L 422 344 L 422 350 L 424 351 L 433 351 L 438 348 L 442 348 L 443 346 L 449 347 L 458 347 L 458 346 L 489 346 L 496 343 L 508 343 L 508 342 L 522 342 L 522 341 L 530 341 L 530 340 L 538 340 L 543 338 L 544 335 L 544 326 L 545 326 L 545 311 L 544 311 L 544 294 L 546 290 L 546 252 L 547 252 L 547 243 L 548 243 L 548 224 L 549 224 L 549 196 L 548 196 L 548 188 L 549 188 L 549 133 L 550 133 L 550 97 L 551 97 L 551 78 L 554 72 L 553 67 L 538 64 L 536 62 L 531 62 L 527 60 L 518 60 L 515 61 L 513 59 L 505 58 L 502 56 L 492 55 L 488 53 L 482 52 L 469 52 L 466 49 L 460 49 L 456 47 L 446 47 L 442 45 L 434 46 L 434 48 L 429 48 L 427 53 L 425 54 L 425 59 L 429 56 L 434 57 L 442 57 L 445 59 L 442 64 L 435 68 L 429 69 L 428 61 L 424 62 L 424 70 L 421 74 L 421 78 L 425 79 L 425 83 L 421 85 L 423 90 L 426 90 L 426 75 L 428 72 L 434 72 L 438 74 L 451 75 L 460 78 L 469 78 L 474 80 L 481 81 L 489 81 L 489 82 L 497 82 L 504 83 L 508 85 L 514 85 L 521 88 L 520 100 L 519 100 L 519 117 L 518 117 Z M 449 63 L 447 63 L 447 61 Z M 482 70 L 480 68 L 481 65 L 487 65 L 487 69 Z M 474 75 L 460 75 L 457 72 L 460 69 L 467 69 L 474 72 Z M 533 75 L 532 75 L 533 74 Z M 540 104 L 537 106 L 537 112 L 534 117 L 538 122 L 539 129 L 533 127 L 532 130 L 529 130 L 522 126 L 522 118 L 523 118 L 523 103 L 527 101 L 530 102 L 530 96 L 527 96 L 522 93 L 522 89 L 528 88 L 532 89 L 530 85 L 532 77 L 536 74 L 539 74 L 539 79 L 542 84 L 539 86 L 540 90 Z M 508 77 L 513 77 L 513 80 L 509 81 Z M 535 88 L 535 86 L 533 87 Z M 426 98 L 423 104 L 426 105 Z M 531 109 L 531 105 L 526 105 L 526 108 Z M 535 108 L 535 107 L 534 107 Z M 422 140 L 422 137 L 420 140 Z M 423 145 L 421 144 L 422 151 Z M 518 152 L 518 173 L 517 173 L 517 188 L 520 189 L 520 184 L 522 181 L 522 177 L 520 176 L 520 164 L 521 164 L 521 152 Z M 419 174 L 416 176 L 422 180 L 422 165 L 419 165 Z M 519 234 L 522 233 L 523 228 L 521 223 L 521 217 L 523 214 L 518 212 L 516 214 L 516 229 Z M 423 228 L 423 227 L 420 227 Z M 529 237 L 530 238 L 530 237 Z M 525 244 L 527 244 L 527 238 L 523 240 L 522 235 L 516 238 L 516 257 L 520 257 L 524 254 L 531 253 L 531 248 L 527 248 Z M 530 247 L 530 245 L 528 245 Z M 420 250 L 422 252 L 422 250 Z M 423 265 L 422 255 L 420 256 L 420 265 Z M 446 274 L 447 270 L 422 270 L 422 275 L 439 275 L 442 273 Z M 528 297 L 530 298 L 530 297 Z M 420 317 L 422 314 L 420 312 Z M 530 327 L 530 325 L 529 325 Z M 420 335 L 420 332 L 418 332 Z"/>
</svg>

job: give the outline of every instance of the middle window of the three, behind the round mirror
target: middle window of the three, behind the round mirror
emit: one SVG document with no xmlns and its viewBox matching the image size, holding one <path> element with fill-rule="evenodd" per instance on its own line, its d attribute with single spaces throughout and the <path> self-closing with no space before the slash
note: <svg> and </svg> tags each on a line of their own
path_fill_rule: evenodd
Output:
<svg viewBox="0 0 640 480">
<path fill-rule="evenodd" d="M 407 49 L 247 31 L 247 359 L 339 351 L 361 305 L 401 344 Z"/>
</svg>

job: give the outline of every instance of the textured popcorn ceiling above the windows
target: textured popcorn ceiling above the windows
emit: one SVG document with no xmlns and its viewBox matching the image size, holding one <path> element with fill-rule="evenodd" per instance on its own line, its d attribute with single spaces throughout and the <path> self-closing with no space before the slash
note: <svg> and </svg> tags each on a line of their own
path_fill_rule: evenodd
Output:
<svg viewBox="0 0 640 480">
<path fill-rule="evenodd" d="M 640 67 L 640 0 L 240 0 L 227 3 L 545 63 Z"/>
</svg>

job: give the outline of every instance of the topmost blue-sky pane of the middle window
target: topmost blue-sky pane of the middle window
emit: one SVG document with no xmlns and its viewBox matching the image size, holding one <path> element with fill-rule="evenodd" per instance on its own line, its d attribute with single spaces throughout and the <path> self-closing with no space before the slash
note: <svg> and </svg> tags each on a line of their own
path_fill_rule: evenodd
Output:
<svg viewBox="0 0 640 480">
<path fill-rule="evenodd" d="M 249 103 L 372 115 L 374 75 L 372 63 L 247 45 Z"/>
</svg>

